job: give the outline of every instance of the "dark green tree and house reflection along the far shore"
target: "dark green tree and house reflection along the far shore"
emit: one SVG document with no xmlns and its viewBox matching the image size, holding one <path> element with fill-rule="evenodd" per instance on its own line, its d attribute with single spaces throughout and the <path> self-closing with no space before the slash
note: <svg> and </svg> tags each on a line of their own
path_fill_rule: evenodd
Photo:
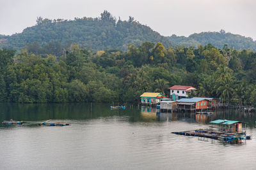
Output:
<svg viewBox="0 0 256 170">
<path fill-rule="evenodd" d="M 125 110 L 110 110 L 106 103 L 65 103 L 65 104 L 17 104 L 0 103 L 0 121 L 23 120 L 88 120 L 102 117 L 128 117 L 129 122 L 171 122 L 185 121 L 189 123 L 207 124 L 216 119 L 240 120 L 255 127 L 255 113 L 244 113 L 235 110 L 224 110 L 212 114 L 196 113 L 162 113 L 156 108 L 128 105 Z"/>
</svg>

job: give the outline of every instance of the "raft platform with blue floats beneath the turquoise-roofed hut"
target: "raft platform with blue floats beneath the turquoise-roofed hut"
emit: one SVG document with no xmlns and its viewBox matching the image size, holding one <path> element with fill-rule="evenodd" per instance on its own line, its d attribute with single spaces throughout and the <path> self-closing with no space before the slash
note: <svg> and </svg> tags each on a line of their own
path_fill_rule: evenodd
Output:
<svg viewBox="0 0 256 170">
<path fill-rule="evenodd" d="M 184 136 L 198 136 L 204 138 L 218 139 L 221 141 L 251 139 L 251 136 L 246 136 L 246 133 L 229 133 L 225 131 L 216 131 L 215 129 L 197 129 L 195 131 L 172 132 Z"/>
</svg>

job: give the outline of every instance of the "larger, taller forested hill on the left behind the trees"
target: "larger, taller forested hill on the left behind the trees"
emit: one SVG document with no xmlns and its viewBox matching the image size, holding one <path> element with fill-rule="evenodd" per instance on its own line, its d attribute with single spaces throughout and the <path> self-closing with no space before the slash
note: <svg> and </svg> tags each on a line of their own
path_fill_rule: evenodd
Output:
<svg viewBox="0 0 256 170">
<path fill-rule="evenodd" d="M 104 11 L 99 18 L 49 20 L 38 17 L 35 26 L 28 27 L 19 34 L 0 36 L 0 48 L 20 49 L 35 42 L 40 46 L 60 42 L 62 46 L 77 43 L 93 50 L 127 50 L 129 43 L 140 45 L 144 41 L 174 46 L 168 38 L 136 22 L 133 17 L 129 17 L 127 21 L 116 20 L 111 13 Z"/>
</svg>

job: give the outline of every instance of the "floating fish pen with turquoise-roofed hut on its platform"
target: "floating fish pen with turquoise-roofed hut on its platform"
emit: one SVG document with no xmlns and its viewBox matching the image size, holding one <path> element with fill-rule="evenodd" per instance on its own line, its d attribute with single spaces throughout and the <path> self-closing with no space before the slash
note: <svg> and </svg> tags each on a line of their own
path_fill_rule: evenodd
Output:
<svg viewBox="0 0 256 170">
<path fill-rule="evenodd" d="M 246 124 L 246 122 L 239 122 L 234 120 L 215 120 L 210 123 L 220 124 L 220 129 L 197 129 L 194 131 L 182 131 L 172 133 L 184 136 L 198 136 L 204 138 L 218 139 L 221 141 L 251 139 L 251 136 L 246 136 L 246 131 L 243 132 L 242 125 L 240 125 L 242 123 Z M 225 129 L 221 125 L 226 125 L 227 128 Z"/>
</svg>

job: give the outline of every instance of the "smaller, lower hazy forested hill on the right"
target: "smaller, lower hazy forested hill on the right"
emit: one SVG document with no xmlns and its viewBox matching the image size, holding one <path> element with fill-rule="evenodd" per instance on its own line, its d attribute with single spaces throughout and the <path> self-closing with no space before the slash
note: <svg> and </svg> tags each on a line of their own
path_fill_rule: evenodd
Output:
<svg viewBox="0 0 256 170">
<path fill-rule="evenodd" d="M 222 49 L 223 46 L 227 44 L 230 48 L 235 48 L 236 50 L 250 48 L 251 50 L 256 51 L 256 41 L 253 41 L 252 38 L 231 34 L 230 32 L 225 32 L 223 30 L 220 32 L 200 32 L 199 34 L 191 34 L 188 37 L 176 36 L 173 34 L 172 36 L 169 36 L 168 39 L 176 45 L 182 46 L 198 46 L 211 43 L 213 46 Z"/>
</svg>

